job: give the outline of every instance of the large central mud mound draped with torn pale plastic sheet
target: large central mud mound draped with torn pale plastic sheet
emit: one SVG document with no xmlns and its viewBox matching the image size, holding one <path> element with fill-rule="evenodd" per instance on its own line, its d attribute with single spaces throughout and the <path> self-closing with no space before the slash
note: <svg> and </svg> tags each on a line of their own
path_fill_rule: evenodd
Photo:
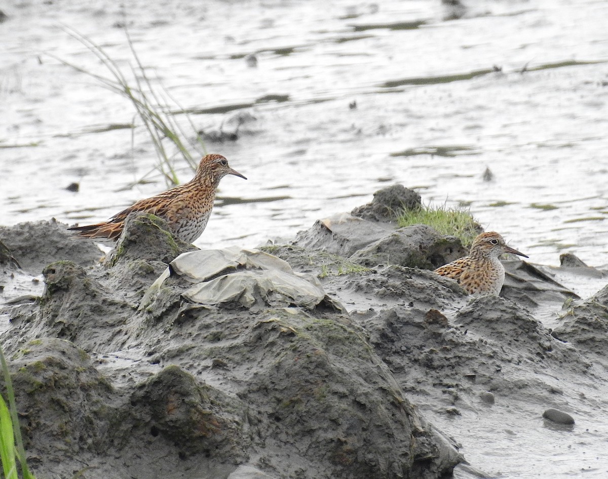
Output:
<svg viewBox="0 0 608 479">
<path fill-rule="evenodd" d="M 209 257 L 209 252 L 200 254 Z M 185 260 L 188 255 L 192 256 L 192 261 Z M 181 271 L 182 276 L 187 275 L 189 281 L 193 281 L 196 275 L 206 280 L 213 278 L 209 283 L 226 278 L 222 293 L 225 292 L 227 297 L 232 295 L 231 289 L 237 293 L 240 291 L 239 284 L 227 282 L 243 274 L 234 267 L 237 264 L 245 270 L 254 265 L 278 264 L 285 275 L 278 284 L 285 284 L 289 275 L 297 278 L 290 272 L 288 264 L 277 263 L 278 258 L 260 257 L 255 250 L 219 251 L 216 256 L 224 258 L 228 269 L 218 267 L 214 260 L 197 260 L 195 255 L 198 256 L 198 252 L 188 255 L 183 257 L 184 264 L 179 263 L 181 258 L 174 261 L 172 269 Z M 189 269 L 184 269 L 188 266 Z M 215 277 L 210 274 L 212 271 L 227 274 Z M 174 300 L 188 298 L 179 292 L 179 286 L 176 286 L 180 283 L 178 278 L 173 278 L 173 283 L 170 277 L 165 281 L 170 284 L 157 285 L 154 294 L 148 296 L 151 300 L 146 308 L 148 314 L 159 312 L 155 302 L 160 300 L 166 304 L 166 298 L 161 299 L 164 288 L 174 289 Z M 184 283 L 182 287 L 189 288 L 190 284 Z M 278 291 L 278 286 L 275 286 L 275 291 Z M 286 298 L 285 295 L 283 297 Z M 412 423 L 407 419 L 409 404 L 398 388 L 394 389 L 390 371 L 375 354 L 370 355 L 361 331 L 351 324 L 344 308 L 328 308 L 328 303 L 319 302 L 319 299 L 316 300 L 317 306 L 310 303 L 301 308 L 294 307 L 294 298 L 283 304 L 269 302 L 263 297 L 254 299 L 250 306 L 265 301 L 272 309 L 260 311 L 250 307 L 243 315 L 242 308 L 231 308 L 230 322 L 238 327 L 221 327 L 218 322 L 226 324 L 225 320 L 206 307 L 188 309 L 187 318 L 182 308 L 176 312 L 178 318 L 173 321 L 178 320 L 182 328 L 186 325 L 200 328 L 212 321 L 213 329 L 204 328 L 208 331 L 206 336 L 195 335 L 199 339 L 191 347 L 199 351 L 196 356 L 204 358 L 209 357 L 205 342 L 214 344 L 213 357 L 209 360 L 215 374 L 222 374 L 225 379 L 235 382 L 243 374 L 242 359 L 239 358 L 247 360 L 247 369 L 252 370 L 247 372 L 247 376 L 253 373 L 255 381 L 249 383 L 238 379 L 235 382 L 240 384 L 236 389 L 237 395 L 249 404 L 249 421 L 258 430 L 256 435 L 265 438 L 266 447 L 261 460 L 271 466 L 278 477 L 295 477 L 305 471 L 315 477 L 326 477 L 325 474 L 330 474 L 328 477 L 400 477 L 409 474 L 407 471 L 414 465 L 422 470 L 424 468 L 415 460 L 418 452 L 415 455 L 407 452 L 413 434 L 420 438 L 420 444 L 424 444 L 426 452 L 421 456 L 430 454 L 436 458 L 433 461 L 435 468 L 453 467 L 449 464 L 458 461 L 458 454 L 447 442 L 436 443 L 435 433 L 430 427 L 423 427 L 421 421 Z M 190 296 L 189 300 L 201 304 L 195 296 Z M 277 306 L 283 308 L 276 309 Z M 254 311 L 258 311 L 258 315 L 252 316 Z M 161 323 L 170 320 L 165 314 Z M 159 322 L 156 324 L 160 326 Z M 162 356 L 165 361 L 182 357 L 178 351 L 167 353 Z M 350 397 L 357 398 L 354 404 L 345 400 Z M 353 405 L 356 406 L 354 409 Z M 323 426 L 325 424 L 332 425 L 331 432 Z M 305 443 L 300 444 L 296 439 L 300 436 L 307 438 Z M 308 443 L 310 445 L 305 446 Z M 277 448 L 289 451 L 291 460 L 288 464 L 279 466 L 278 458 L 272 452 Z M 316 457 L 318 465 L 309 463 L 311 454 Z M 422 472 L 420 477 L 424 477 Z"/>
</svg>

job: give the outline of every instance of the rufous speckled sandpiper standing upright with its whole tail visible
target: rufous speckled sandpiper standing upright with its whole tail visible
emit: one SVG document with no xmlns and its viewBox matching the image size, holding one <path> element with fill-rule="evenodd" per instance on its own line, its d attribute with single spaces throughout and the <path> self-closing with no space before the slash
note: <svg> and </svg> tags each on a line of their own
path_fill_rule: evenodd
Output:
<svg viewBox="0 0 608 479">
<path fill-rule="evenodd" d="M 227 174 L 247 179 L 230 168 L 228 160 L 221 154 L 208 154 L 202 157 L 195 176 L 189 182 L 152 198 L 140 199 L 108 221 L 68 229 L 77 231 L 76 236 L 80 238 L 116 240 L 122 233 L 125 218 L 129 213 L 145 212 L 166 219 L 173 235 L 192 243 L 201 236 L 207 226 L 219 181 Z"/>
</svg>

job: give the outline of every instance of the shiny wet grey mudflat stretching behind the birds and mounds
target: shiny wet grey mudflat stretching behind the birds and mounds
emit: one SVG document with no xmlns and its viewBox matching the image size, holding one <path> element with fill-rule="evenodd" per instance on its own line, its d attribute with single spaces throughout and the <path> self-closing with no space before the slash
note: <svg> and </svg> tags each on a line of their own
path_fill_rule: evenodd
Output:
<svg viewBox="0 0 608 479">
<path fill-rule="evenodd" d="M 165 188 L 131 105 L 57 60 L 108 75 L 67 26 L 129 72 L 126 26 L 207 151 L 250 178 L 222 185 L 199 246 L 291 237 L 398 181 L 537 263 L 608 263 L 608 5 L 450 3 L 0 4 L 0 224 L 102 221 Z"/>
</svg>

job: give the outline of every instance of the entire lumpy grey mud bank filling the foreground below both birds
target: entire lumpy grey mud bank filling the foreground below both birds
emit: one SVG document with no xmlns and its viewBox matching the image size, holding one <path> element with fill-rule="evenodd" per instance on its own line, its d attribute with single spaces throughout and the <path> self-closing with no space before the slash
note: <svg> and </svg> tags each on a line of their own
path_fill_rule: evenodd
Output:
<svg viewBox="0 0 608 479">
<path fill-rule="evenodd" d="M 32 225 L 3 229 L 13 250 L 2 250 L 0 280 L 41 274 L 44 285 L 0 309 L 36 475 L 605 470 L 605 290 L 577 300 L 519 262 L 505 297 L 471 298 L 424 269 L 458 252 L 454 238 L 362 216 L 320 220 L 291 243 L 222 250 L 177 244 L 162 221 L 130 216 L 102 262 L 84 241 L 82 257 L 49 255 L 44 266 L 36 241 L 73 244 L 60 224 L 36 224 L 21 246 Z M 379 238 L 367 233 L 375 226 Z M 378 255 L 393 243 L 403 264 Z M 553 330 L 530 312 L 539 303 L 564 303 Z M 505 450 L 513 460 L 497 467 Z"/>
</svg>

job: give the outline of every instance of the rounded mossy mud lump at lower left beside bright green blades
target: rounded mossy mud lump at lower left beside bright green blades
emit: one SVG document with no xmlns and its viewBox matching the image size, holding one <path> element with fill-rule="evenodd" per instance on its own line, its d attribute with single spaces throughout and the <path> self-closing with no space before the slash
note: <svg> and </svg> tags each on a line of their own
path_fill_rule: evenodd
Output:
<svg viewBox="0 0 608 479">
<path fill-rule="evenodd" d="M 11 369 L 32 466 L 105 451 L 117 421 L 113 391 L 84 350 L 54 337 L 35 339 L 13 355 Z"/>
</svg>

